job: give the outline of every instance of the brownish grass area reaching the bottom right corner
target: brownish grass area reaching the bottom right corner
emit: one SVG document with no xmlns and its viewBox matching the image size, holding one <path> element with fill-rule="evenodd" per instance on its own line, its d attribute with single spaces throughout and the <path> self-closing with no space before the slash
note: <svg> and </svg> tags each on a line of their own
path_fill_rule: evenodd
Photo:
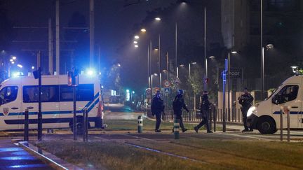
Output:
<svg viewBox="0 0 303 170">
<path fill-rule="evenodd" d="M 302 143 L 180 139 L 131 143 L 228 169 L 303 169 Z"/>
</svg>

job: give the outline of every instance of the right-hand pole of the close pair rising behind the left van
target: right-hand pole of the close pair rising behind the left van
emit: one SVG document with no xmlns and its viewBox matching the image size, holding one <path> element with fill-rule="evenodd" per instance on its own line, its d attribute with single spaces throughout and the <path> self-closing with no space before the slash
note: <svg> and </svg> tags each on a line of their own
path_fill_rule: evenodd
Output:
<svg viewBox="0 0 303 170">
<path fill-rule="evenodd" d="M 55 13 L 55 22 L 56 22 L 56 31 L 55 31 L 55 36 L 56 36 L 56 74 L 60 75 L 60 1 L 56 0 L 56 13 Z"/>
</svg>

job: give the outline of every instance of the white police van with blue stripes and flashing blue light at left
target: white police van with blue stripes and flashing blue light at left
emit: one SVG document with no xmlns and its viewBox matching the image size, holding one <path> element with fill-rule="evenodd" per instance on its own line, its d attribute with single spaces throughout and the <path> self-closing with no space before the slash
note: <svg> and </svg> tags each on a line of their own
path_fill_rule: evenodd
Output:
<svg viewBox="0 0 303 170">
<path fill-rule="evenodd" d="M 95 76 L 79 75 L 76 87 L 77 127 L 82 127 L 83 108 L 88 109 L 89 127 L 102 126 L 102 95 L 100 80 Z M 42 76 L 43 129 L 72 127 L 73 90 L 67 86 L 67 75 Z M 17 76 L 0 85 L 0 130 L 24 128 L 25 108 L 29 110 L 29 129 L 37 128 L 38 79 Z M 99 109 L 98 109 L 99 107 Z"/>
</svg>

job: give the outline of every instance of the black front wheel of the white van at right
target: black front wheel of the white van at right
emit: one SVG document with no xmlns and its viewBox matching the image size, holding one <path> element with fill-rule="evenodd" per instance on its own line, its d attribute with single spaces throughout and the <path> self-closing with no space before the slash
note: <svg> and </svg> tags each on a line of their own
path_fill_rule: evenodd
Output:
<svg viewBox="0 0 303 170">
<path fill-rule="evenodd" d="M 257 123 L 257 129 L 261 134 L 274 134 L 276 132 L 276 122 L 272 118 L 262 117 Z"/>
</svg>

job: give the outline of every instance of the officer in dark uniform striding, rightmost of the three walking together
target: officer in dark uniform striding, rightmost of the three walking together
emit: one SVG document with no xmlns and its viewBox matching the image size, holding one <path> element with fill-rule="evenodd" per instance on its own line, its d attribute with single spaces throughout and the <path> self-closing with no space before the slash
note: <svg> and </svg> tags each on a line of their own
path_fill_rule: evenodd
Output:
<svg viewBox="0 0 303 170">
<path fill-rule="evenodd" d="M 208 133 L 213 133 L 210 130 L 210 122 L 209 122 L 209 108 L 210 108 L 210 101 L 208 101 L 208 92 L 204 91 L 203 92 L 203 96 L 202 96 L 202 101 L 200 104 L 200 110 L 201 110 L 201 115 L 203 120 L 199 123 L 199 125 L 197 125 L 196 127 L 194 127 L 194 130 L 198 133 L 198 129 L 200 129 L 200 127 L 202 127 L 203 125 L 206 125 L 206 129 Z"/>
</svg>

